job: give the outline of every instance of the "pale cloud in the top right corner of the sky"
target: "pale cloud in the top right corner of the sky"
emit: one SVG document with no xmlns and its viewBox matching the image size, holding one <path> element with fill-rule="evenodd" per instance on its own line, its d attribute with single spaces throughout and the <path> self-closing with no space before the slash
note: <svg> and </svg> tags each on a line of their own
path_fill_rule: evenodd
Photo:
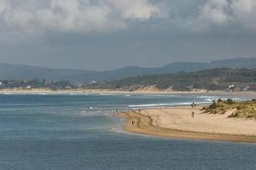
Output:
<svg viewBox="0 0 256 170">
<path fill-rule="evenodd" d="M 199 7 L 197 28 L 208 30 L 212 26 L 239 26 L 256 31 L 255 0 L 208 0 Z"/>
</svg>

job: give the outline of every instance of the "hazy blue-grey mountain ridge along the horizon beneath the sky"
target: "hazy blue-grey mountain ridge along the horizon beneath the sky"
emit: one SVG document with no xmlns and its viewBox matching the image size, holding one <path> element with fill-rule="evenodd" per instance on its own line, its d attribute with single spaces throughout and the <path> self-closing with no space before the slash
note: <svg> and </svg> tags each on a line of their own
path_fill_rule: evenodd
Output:
<svg viewBox="0 0 256 170">
<path fill-rule="evenodd" d="M 203 62 L 177 62 L 159 68 L 129 66 L 113 71 L 81 71 L 72 69 L 50 69 L 31 65 L 0 64 L 0 79 L 28 80 L 32 78 L 49 81 L 68 80 L 72 82 L 113 81 L 125 77 L 174 73 L 178 71 L 201 71 L 211 68 L 256 68 L 256 58 L 237 58 Z"/>
</svg>

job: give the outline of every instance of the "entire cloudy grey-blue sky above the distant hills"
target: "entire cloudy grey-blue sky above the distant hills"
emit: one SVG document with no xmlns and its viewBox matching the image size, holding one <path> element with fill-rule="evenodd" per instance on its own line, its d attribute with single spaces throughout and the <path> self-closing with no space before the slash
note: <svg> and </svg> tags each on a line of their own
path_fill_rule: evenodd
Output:
<svg viewBox="0 0 256 170">
<path fill-rule="evenodd" d="M 256 0 L 0 0 L 0 62 L 112 70 L 256 57 Z"/>
</svg>

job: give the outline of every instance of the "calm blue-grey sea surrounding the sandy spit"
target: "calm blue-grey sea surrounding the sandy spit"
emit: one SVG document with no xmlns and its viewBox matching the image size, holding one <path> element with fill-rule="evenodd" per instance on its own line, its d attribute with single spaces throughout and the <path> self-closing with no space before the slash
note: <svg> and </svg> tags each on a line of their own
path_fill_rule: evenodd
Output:
<svg viewBox="0 0 256 170">
<path fill-rule="evenodd" d="M 226 97 L 226 96 L 222 96 Z M 120 130 L 116 109 L 206 103 L 195 95 L 0 95 L 0 170 L 253 170 L 256 144 Z"/>
</svg>

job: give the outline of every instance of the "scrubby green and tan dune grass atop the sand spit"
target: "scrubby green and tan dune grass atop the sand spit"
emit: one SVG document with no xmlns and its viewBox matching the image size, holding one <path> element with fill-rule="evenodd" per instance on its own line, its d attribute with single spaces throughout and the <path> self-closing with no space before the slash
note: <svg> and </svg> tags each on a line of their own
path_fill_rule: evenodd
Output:
<svg viewBox="0 0 256 170">
<path fill-rule="evenodd" d="M 233 111 L 229 117 L 256 118 L 256 100 L 235 102 L 232 99 L 217 101 L 213 100 L 212 105 L 202 108 L 202 111 L 209 114 L 225 114 Z"/>
</svg>

